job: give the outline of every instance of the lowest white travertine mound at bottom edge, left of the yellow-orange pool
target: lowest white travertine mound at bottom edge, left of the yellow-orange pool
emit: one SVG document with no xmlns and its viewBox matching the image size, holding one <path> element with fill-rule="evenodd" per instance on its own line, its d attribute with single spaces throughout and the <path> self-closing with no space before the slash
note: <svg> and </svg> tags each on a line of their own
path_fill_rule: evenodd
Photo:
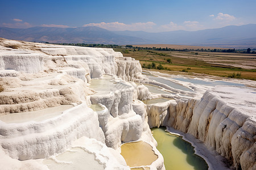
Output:
<svg viewBox="0 0 256 170">
<path fill-rule="evenodd" d="M 81 137 L 63 154 L 42 160 L 49 169 L 129 169 L 113 148 L 93 138 Z"/>
</svg>

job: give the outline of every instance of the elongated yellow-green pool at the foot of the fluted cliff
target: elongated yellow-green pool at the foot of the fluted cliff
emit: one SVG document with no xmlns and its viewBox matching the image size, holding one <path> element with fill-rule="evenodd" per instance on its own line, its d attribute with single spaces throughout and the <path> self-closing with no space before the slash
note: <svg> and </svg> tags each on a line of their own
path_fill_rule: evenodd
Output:
<svg viewBox="0 0 256 170">
<path fill-rule="evenodd" d="M 158 142 L 156 147 L 164 157 L 166 170 L 206 170 L 208 165 L 203 158 L 196 155 L 193 146 L 181 137 L 165 131 L 166 128 L 152 128 L 153 137 Z"/>
</svg>

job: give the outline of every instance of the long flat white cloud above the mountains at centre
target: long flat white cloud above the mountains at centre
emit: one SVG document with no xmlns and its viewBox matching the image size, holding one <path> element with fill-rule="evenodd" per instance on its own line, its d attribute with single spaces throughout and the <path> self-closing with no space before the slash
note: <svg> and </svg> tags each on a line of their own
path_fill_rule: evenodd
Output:
<svg viewBox="0 0 256 170">
<path fill-rule="evenodd" d="M 83 27 L 88 26 L 96 26 L 101 27 L 104 29 L 108 29 L 109 31 L 150 31 L 156 24 L 153 22 L 146 22 L 146 23 L 131 23 L 131 24 L 125 24 L 125 23 L 119 23 L 119 22 L 113 22 L 113 23 L 89 23 L 84 24 Z"/>
</svg>

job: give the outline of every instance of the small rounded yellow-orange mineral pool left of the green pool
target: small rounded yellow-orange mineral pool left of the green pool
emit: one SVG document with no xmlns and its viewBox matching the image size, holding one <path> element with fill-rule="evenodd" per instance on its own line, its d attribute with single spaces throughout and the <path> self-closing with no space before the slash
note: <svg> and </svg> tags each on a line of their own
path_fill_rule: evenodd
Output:
<svg viewBox="0 0 256 170">
<path fill-rule="evenodd" d="M 150 165 L 158 159 L 158 156 L 152 150 L 152 146 L 143 141 L 123 144 L 121 146 L 121 155 L 125 158 L 129 167 Z"/>
</svg>

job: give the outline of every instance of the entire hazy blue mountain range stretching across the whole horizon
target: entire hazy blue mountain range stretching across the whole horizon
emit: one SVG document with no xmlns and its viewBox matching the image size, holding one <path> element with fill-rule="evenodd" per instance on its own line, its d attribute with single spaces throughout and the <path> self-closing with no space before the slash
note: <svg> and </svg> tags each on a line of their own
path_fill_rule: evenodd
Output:
<svg viewBox="0 0 256 170">
<path fill-rule="evenodd" d="M 227 26 L 200 31 L 108 31 L 99 27 L 79 28 L 7 28 L 0 27 L 0 37 L 35 42 L 67 42 L 87 44 L 177 44 L 256 48 L 256 24 Z"/>
</svg>

